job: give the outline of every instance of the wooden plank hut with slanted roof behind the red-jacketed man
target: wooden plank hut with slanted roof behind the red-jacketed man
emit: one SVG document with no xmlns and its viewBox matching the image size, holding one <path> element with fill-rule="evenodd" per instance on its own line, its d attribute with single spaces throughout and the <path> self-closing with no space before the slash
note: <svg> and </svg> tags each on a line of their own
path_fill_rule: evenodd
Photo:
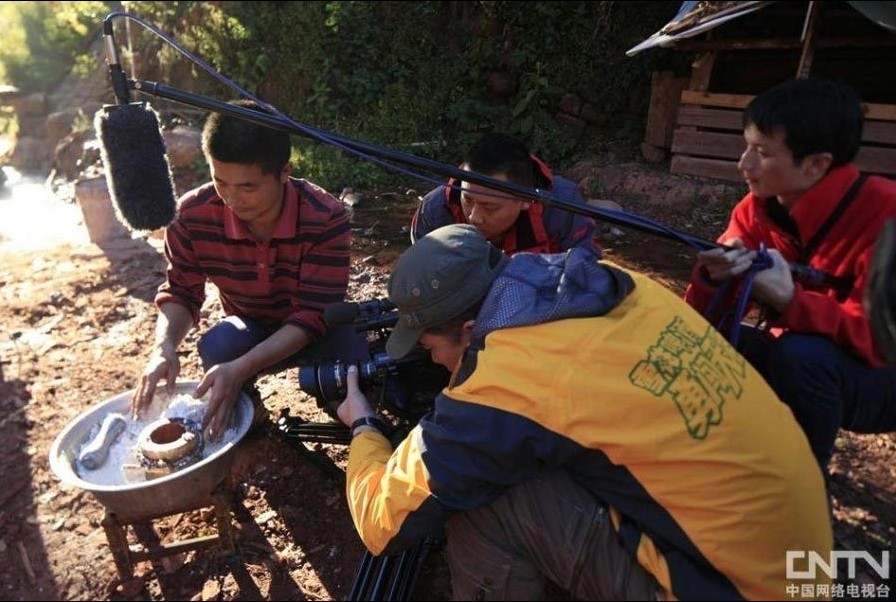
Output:
<svg viewBox="0 0 896 602">
<path fill-rule="evenodd" d="M 896 2 L 684 2 L 632 48 L 688 53 L 690 74 L 656 72 L 642 149 L 673 173 L 740 181 L 742 113 L 793 77 L 849 83 L 867 105 L 859 169 L 896 176 Z"/>
</svg>

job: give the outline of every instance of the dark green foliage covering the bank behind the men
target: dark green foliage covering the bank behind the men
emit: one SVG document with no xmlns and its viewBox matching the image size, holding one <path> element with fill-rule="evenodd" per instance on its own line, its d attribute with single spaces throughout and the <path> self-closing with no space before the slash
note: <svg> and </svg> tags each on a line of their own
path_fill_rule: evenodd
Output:
<svg viewBox="0 0 896 602">
<path fill-rule="evenodd" d="M 15 4 L 41 15 L 38 20 L 49 31 L 53 9 L 40 7 L 101 3 Z M 500 130 L 519 135 L 555 167 L 593 150 L 599 141 L 641 136 L 650 73 L 662 52 L 628 58 L 625 51 L 665 24 L 678 6 L 581 1 L 122 4 L 301 123 L 450 163 L 458 162 L 482 133 Z M 5 6 L 0 4 L 0 17 L 9 12 Z M 132 49 L 133 69 L 141 79 L 223 100 L 235 96 L 138 26 L 131 25 L 128 35 L 118 39 Z M 557 119 L 570 98 L 573 105 L 590 108 L 591 126 L 573 127 Z M 320 142 L 297 138 L 295 150 L 297 173 L 328 188 L 409 179 Z"/>
</svg>

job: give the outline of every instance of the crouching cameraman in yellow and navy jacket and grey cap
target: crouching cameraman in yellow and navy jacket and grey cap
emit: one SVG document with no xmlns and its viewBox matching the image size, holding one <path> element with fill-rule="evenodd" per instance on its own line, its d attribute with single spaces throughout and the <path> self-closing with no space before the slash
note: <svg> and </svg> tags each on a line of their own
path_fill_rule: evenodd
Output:
<svg viewBox="0 0 896 602">
<path fill-rule="evenodd" d="M 457 599 L 536 600 L 546 579 L 589 600 L 825 595 L 787 578 L 787 551 L 832 547 L 805 435 L 674 294 L 583 249 L 510 259 L 469 225 L 418 240 L 388 288 L 389 354 L 421 345 L 452 377 L 393 450 L 350 372 L 348 501 L 373 553 L 444 528 Z"/>
</svg>

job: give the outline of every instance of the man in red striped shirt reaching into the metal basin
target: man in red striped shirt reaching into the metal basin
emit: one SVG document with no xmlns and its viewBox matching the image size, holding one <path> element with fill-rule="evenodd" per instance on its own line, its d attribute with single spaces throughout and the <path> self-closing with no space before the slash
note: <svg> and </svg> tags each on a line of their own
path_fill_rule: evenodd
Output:
<svg viewBox="0 0 896 602">
<path fill-rule="evenodd" d="M 240 101 L 255 110 L 260 106 Z M 205 284 L 226 317 L 199 340 L 212 439 L 227 427 L 241 388 L 261 372 L 295 365 L 326 331 L 323 309 L 345 296 L 351 229 L 342 204 L 290 176 L 289 134 L 213 113 L 202 132 L 212 182 L 185 194 L 165 232 L 167 279 L 150 359 L 131 402 L 139 415 L 164 378 L 180 372 L 177 348 L 198 324 Z"/>
</svg>

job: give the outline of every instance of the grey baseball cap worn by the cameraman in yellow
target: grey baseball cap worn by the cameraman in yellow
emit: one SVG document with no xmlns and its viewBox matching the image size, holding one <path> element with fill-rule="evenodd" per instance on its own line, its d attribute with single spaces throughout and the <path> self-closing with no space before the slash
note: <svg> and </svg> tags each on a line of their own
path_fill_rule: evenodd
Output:
<svg viewBox="0 0 896 602">
<path fill-rule="evenodd" d="M 483 299 L 508 258 L 469 224 L 433 230 L 411 245 L 389 277 L 398 322 L 386 352 L 399 359 L 428 328 L 456 318 Z"/>
</svg>

